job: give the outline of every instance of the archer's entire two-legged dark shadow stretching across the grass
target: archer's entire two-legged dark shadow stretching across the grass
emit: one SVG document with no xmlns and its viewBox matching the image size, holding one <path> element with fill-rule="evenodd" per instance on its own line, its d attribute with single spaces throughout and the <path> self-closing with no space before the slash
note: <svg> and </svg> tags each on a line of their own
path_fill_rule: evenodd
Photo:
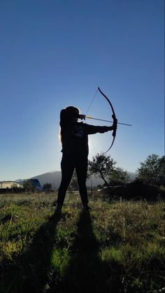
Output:
<svg viewBox="0 0 165 293">
<path fill-rule="evenodd" d="M 29 249 L 8 264 L 1 273 L 0 292 L 124 292 L 121 264 L 103 262 L 99 257 L 89 212 L 80 213 L 70 262 L 59 278 L 51 269 L 59 213 L 36 232 Z M 59 278 L 59 279 L 58 279 Z M 47 286 L 46 286 L 47 285 Z"/>
</svg>

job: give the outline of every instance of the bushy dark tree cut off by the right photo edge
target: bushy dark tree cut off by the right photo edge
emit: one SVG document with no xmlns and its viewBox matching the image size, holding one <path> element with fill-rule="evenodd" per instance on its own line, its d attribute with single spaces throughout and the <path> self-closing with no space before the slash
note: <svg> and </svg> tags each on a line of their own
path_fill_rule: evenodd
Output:
<svg viewBox="0 0 165 293">
<path fill-rule="evenodd" d="M 141 162 L 141 167 L 138 168 L 137 178 L 143 180 L 143 183 L 149 185 L 165 185 L 165 172 L 164 172 L 165 157 L 159 157 L 152 154 Z"/>
</svg>

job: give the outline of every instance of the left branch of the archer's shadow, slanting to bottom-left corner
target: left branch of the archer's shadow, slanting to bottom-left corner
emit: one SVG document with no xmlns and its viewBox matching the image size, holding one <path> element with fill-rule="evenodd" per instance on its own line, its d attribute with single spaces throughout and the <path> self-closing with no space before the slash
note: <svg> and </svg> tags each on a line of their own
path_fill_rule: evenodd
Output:
<svg viewBox="0 0 165 293">
<path fill-rule="evenodd" d="M 27 251 L 7 264 L 1 273 L 0 292 L 44 292 L 49 283 L 50 261 L 55 244 L 59 213 L 43 224 L 34 235 Z"/>
</svg>

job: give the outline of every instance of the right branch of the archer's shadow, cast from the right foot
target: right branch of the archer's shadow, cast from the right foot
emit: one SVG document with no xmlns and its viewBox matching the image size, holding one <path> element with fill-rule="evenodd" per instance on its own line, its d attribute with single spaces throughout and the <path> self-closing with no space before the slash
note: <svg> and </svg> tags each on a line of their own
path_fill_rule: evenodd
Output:
<svg viewBox="0 0 165 293">
<path fill-rule="evenodd" d="M 62 283 L 60 287 L 52 286 L 49 292 L 124 292 L 121 264 L 109 264 L 99 257 L 99 242 L 89 212 L 80 213 L 77 226 L 71 261 Z"/>
</svg>

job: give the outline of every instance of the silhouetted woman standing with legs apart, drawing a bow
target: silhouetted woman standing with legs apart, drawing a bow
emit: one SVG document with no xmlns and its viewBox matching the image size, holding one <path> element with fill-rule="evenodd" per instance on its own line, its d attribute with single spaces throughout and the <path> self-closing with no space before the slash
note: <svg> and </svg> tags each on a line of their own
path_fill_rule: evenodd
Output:
<svg viewBox="0 0 165 293">
<path fill-rule="evenodd" d="M 88 134 L 104 133 L 114 129 L 114 126 L 94 126 L 78 119 L 85 119 L 80 115 L 78 108 L 69 106 L 60 113 L 60 137 L 62 142 L 62 181 L 59 186 L 57 197 L 57 209 L 62 210 L 66 190 L 71 182 L 73 171 L 76 169 L 78 186 L 82 206 L 89 210 L 87 199 L 87 156 L 88 156 Z"/>
</svg>

